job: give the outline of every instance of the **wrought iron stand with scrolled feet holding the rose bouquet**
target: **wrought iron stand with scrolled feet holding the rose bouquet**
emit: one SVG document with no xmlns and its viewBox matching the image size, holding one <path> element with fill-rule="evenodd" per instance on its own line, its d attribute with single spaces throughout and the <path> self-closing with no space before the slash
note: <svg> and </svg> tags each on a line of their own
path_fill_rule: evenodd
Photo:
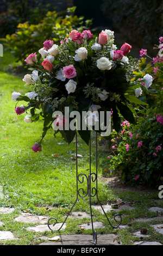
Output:
<svg viewBox="0 0 163 256">
<path fill-rule="evenodd" d="M 93 229 L 91 197 L 95 197 L 96 196 L 96 198 L 98 200 L 98 203 L 100 204 L 100 206 L 101 206 L 101 208 L 102 208 L 102 210 L 104 212 L 104 215 L 105 215 L 106 219 L 108 220 L 108 222 L 109 222 L 109 224 L 111 225 L 112 228 L 119 227 L 119 225 L 122 222 L 122 217 L 121 217 L 120 214 L 116 214 L 114 216 L 114 221 L 118 222 L 118 224 L 115 225 L 115 226 L 112 225 L 111 222 L 109 221 L 108 216 L 106 215 L 106 213 L 105 213 L 105 211 L 103 209 L 103 206 L 102 206 L 101 202 L 99 202 L 99 199 L 98 199 L 98 188 L 97 188 L 97 132 L 96 132 L 96 173 L 95 172 L 91 172 L 91 139 L 90 139 L 90 142 L 89 142 L 89 157 L 90 157 L 89 164 L 90 164 L 90 168 L 89 168 L 89 175 L 88 176 L 86 174 L 84 174 L 84 173 L 78 174 L 78 157 L 77 156 L 78 156 L 78 150 L 77 150 L 77 133 L 76 133 L 76 181 L 77 181 L 76 182 L 76 186 L 77 186 L 77 198 L 76 198 L 74 204 L 72 205 L 71 210 L 68 212 L 68 215 L 66 216 L 65 221 L 62 223 L 62 225 L 58 229 L 58 231 L 62 228 L 62 226 L 66 222 L 68 216 L 71 214 L 71 211 L 72 211 L 74 205 L 78 201 L 78 196 L 83 197 L 83 198 L 88 196 L 89 204 L 90 204 L 90 214 L 91 214 L 91 223 L 92 223 L 93 243 L 96 245 L 96 243 L 97 243 L 97 233 L 96 233 L 96 230 L 94 231 L 94 229 Z M 86 182 L 87 182 L 86 193 L 84 193 L 84 188 L 83 187 L 78 188 L 78 182 L 80 182 L 80 184 L 83 184 L 84 178 L 86 179 Z M 95 186 L 91 186 L 92 184 L 95 184 Z M 54 217 L 49 218 L 49 220 L 48 220 L 48 227 L 49 227 L 49 229 L 51 229 L 53 231 L 53 229 L 51 228 L 51 225 L 54 227 L 55 224 L 57 224 L 57 219 L 54 218 Z"/>
</svg>

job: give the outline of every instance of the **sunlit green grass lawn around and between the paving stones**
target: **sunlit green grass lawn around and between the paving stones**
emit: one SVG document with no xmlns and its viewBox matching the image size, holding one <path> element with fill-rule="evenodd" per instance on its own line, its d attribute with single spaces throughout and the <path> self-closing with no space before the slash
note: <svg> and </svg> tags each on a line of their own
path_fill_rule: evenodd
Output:
<svg viewBox="0 0 163 256">
<path fill-rule="evenodd" d="M 24 115 L 16 115 L 15 102 L 12 101 L 12 92 L 27 92 L 22 78 L 24 71 L 12 72 L 11 67 L 16 66 L 10 53 L 4 51 L 0 59 L 0 186 L 3 188 L 4 197 L 0 198 L 0 207 L 13 207 L 11 214 L 0 214 L 1 231 L 11 231 L 18 239 L 0 241 L 1 245 L 37 245 L 41 242 L 41 235 L 54 236 L 49 230 L 44 234 L 27 231 L 32 223 L 21 223 L 14 220 L 21 212 L 26 211 L 48 217 L 57 216 L 58 222 L 70 211 L 76 200 L 76 161 L 74 154 L 76 143 L 62 144 L 61 136 L 54 139 L 53 131 L 48 131 L 42 143 L 42 151 L 34 153 L 33 144 L 41 138 L 42 121 L 25 123 Z M 17 105 L 18 106 L 18 105 Z M 56 154 L 56 155 L 53 155 Z M 87 173 L 89 169 L 89 147 L 78 137 L 78 154 L 83 157 L 78 161 L 79 173 Z M 52 156 L 53 155 L 53 156 Z M 102 221 L 106 228 L 99 229 L 98 233 L 118 234 L 123 245 L 131 245 L 137 240 L 132 235 L 134 231 L 147 227 L 150 235 L 148 241 L 163 243 L 162 235 L 156 234 L 149 225 L 151 223 L 135 222 L 135 218 L 154 217 L 156 214 L 149 211 L 151 206 L 163 206 L 161 200 L 156 203 L 158 191 L 155 190 L 118 190 L 109 187 L 102 178 L 104 169 L 107 168 L 107 152 L 98 146 L 98 197 L 102 204 L 115 203 L 118 198 L 125 202 L 133 203 L 132 210 L 121 210 L 122 224 L 128 225 L 126 229 L 112 230 L 106 218 L 98 210 L 92 209 L 93 221 Z M 95 170 L 95 135 L 92 133 L 92 171 Z M 89 200 L 81 198 L 73 211 L 86 211 L 90 214 Z M 96 204 L 92 198 L 92 204 Z M 48 207 L 53 206 L 51 211 Z M 112 219 L 115 212 L 109 212 Z M 78 224 L 90 222 L 88 219 L 75 220 L 67 218 L 67 227 L 60 231 L 61 234 L 77 234 Z M 153 222 L 152 222 L 153 223 Z M 154 222 L 155 223 L 155 222 Z M 159 223 L 156 222 L 156 223 Z M 91 234 L 92 230 L 81 230 L 82 234 Z M 55 234 L 58 234 L 56 231 Z M 139 239 L 138 239 L 139 240 Z"/>
</svg>

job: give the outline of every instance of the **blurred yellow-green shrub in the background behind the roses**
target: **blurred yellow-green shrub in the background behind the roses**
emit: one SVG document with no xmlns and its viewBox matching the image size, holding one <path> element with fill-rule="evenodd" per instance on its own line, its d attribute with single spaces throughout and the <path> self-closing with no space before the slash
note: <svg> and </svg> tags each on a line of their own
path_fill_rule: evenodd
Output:
<svg viewBox="0 0 163 256">
<path fill-rule="evenodd" d="M 29 52 L 34 53 L 42 48 L 44 41 L 50 39 L 58 44 L 61 37 L 65 35 L 68 37 L 69 32 L 73 29 L 82 31 L 91 25 L 91 20 L 86 20 L 84 27 L 84 17 L 74 15 L 75 10 L 76 7 L 68 8 L 69 15 L 65 16 L 57 13 L 57 11 L 48 11 L 43 20 L 36 25 L 29 25 L 28 21 L 20 23 L 14 34 L 6 36 L 5 45 L 8 46 L 17 61 L 21 60 L 24 64 L 24 59 L 29 55 Z"/>
</svg>

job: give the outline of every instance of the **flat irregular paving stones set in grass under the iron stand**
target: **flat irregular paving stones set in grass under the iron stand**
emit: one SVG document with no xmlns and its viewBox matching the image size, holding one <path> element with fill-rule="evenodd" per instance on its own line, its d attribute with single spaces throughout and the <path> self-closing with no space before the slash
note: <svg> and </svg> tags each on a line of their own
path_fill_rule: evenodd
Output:
<svg viewBox="0 0 163 256">
<path fill-rule="evenodd" d="M 102 208 L 100 205 L 93 205 L 94 209 L 102 211 Z M 130 205 L 120 205 L 117 209 L 113 209 L 111 205 L 103 205 L 103 209 L 105 212 L 115 210 L 119 211 L 122 208 L 131 209 Z M 14 208 L 4 208 L 0 207 L 0 214 L 10 214 L 12 211 L 14 211 Z M 149 210 L 155 211 L 155 212 L 161 212 L 162 208 L 150 208 Z M 90 218 L 91 216 L 87 214 L 86 212 L 72 212 L 71 216 L 69 217 L 75 217 L 75 218 Z M 141 222 L 147 222 L 150 220 L 162 220 L 162 216 L 158 216 L 155 218 L 148 218 L 148 219 L 137 219 L 135 221 L 141 221 Z M 47 225 L 48 218 L 46 216 L 37 216 L 32 215 L 28 212 L 22 212 L 20 216 L 15 218 L 15 221 L 17 222 L 24 222 L 24 223 L 33 223 L 33 227 L 28 227 L 27 230 L 33 231 L 33 232 L 45 232 L 50 231 Z M 162 222 L 163 223 L 163 222 Z M 57 223 L 51 226 L 53 227 L 53 230 L 58 230 L 60 228 L 62 223 Z M 0 221 L 0 226 L 3 225 L 3 222 Z M 163 234 L 163 224 L 155 224 L 151 225 L 156 232 Z M 120 225 L 118 228 L 126 228 L 125 225 Z M 66 223 L 63 225 L 62 229 L 66 228 Z M 94 230 L 98 228 L 104 228 L 104 225 L 102 222 L 93 222 L 93 228 Z M 92 229 L 91 222 L 90 223 L 84 223 L 82 225 L 79 225 L 79 229 Z M 140 233 L 140 231 L 135 232 L 133 235 L 137 237 L 147 237 L 147 235 L 143 235 Z M 4 240 L 13 240 L 16 239 L 14 235 L 10 231 L 0 231 L 0 241 Z M 82 235 L 82 234 L 76 234 L 76 235 L 57 235 L 54 237 L 48 237 L 48 236 L 41 236 L 40 239 L 44 240 L 44 242 L 41 242 L 40 245 L 93 245 L 93 237 L 92 235 Z M 97 235 L 97 245 L 121 245 L 121 241 L 119 240 L 118 236 L 115 234 L 98 234 Z M 161 245 L 161 243 L 158 243 L 156 241 L 148 242 L 148 241 L 138 241 L 134 242 L 133 245 Z"/>
</svg>

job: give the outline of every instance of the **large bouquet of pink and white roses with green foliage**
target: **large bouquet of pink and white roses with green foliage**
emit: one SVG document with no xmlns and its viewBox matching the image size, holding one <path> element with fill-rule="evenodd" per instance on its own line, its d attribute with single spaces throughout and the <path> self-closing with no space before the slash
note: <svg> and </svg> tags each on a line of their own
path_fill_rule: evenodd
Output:
<svg viewBox="0 0 163 256">
<path fill-rule="evenodd" d="M 43 42 L 39 50 L 41 63 L 36 53 L 24 60 L 32 70 L 23 78 L 30 89 L 25 95 L 12 93 L 12 99 L 27 102 L 27 106 L 15 107 L 17 115 L 27 113 L 26 123 L 43 120 L 42 138 L 32 147 L 34 151 L 41 151 L 41 141 L 50 128 L 54 134 L 60 132 L 68 143 L 78 130 L 89 144 L 91 129 L 104 131 L 97 123 L 103 123 L 107 130 L 107 113 L 111 113 L 110 120 L 117 132 L 121 115 L 130 123 L 135 122 L 136 104 L 145 103 L 138 99 L 142 82 L 148 88 L 152 76 L 144 76 L 137 59 L 127 57 L 130 49 L 125 42 L 117 50 L 114 32 L 109 29 L 99 33 L 98 38 L 89 30 L 74 30 L 67 38 L 61 38 L 60 45 L 52 40 Z"/>
</svg>

